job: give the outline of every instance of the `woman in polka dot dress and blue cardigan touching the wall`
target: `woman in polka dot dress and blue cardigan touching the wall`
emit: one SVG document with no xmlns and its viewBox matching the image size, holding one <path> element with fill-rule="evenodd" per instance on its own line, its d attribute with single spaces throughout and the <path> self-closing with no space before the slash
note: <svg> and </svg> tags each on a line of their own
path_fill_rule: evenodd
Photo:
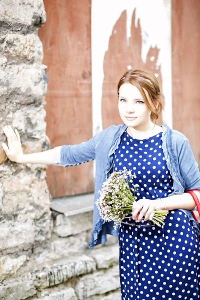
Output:
<svg viewBox="0 0 200 300">
<path fill-rule="evenodd" d="M 187 138 L 168 126 L 158 126 L 161 111 L 156 77 L 145 70 L 127 71 L 118 82 L 118 109 L 123 125 L 112 125 L 79 145 L 63 145 L 24 155 L 20 137 L 10 126 L 3 128 L 8 158 L 18 163 L 76 165 L 95 158 L 94 201 L 103 181 L 113 170 L 131 169 L 139 184 L 132 217 L 118 230 L 104 222 L 96 205 L 89 243 L 119 241 L 121 298 L 193 299 L 200 297 L 199 228 L 190 210 L 195 203 L 187 190 L 200 189 L 200 174 Z M 147 221 L 154 209 L 167 209 L 165 224 Z M 142 219 L 142 217 L 144 217 Z"/>
</svg>

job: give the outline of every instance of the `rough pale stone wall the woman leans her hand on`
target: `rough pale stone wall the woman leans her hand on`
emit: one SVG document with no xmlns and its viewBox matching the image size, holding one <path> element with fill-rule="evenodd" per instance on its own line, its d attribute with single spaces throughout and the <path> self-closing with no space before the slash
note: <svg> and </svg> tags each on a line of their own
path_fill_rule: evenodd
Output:
<svg viewBox="0 0 200 300">
<path fill-rule="evenodd" d="M 44 22 L 42 0 L 0 1 L 0 125 L 17 128 L 24 153 L 50 148 Z M 53 217 L 45 169 L 9 161 L 0 146 L 0 299 L 119 299 L 116 238 L 89 250 L 92 212 Z"/>
</svg>

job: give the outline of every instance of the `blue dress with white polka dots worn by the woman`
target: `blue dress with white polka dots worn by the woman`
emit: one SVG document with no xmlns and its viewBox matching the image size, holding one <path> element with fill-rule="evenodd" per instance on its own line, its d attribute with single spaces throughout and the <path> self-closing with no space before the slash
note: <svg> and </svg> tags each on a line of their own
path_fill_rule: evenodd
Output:
<svg viewBox="0 0 200 300">
<path fill-rule="evenodd" d="M 131 169 L 139 184 L 137 199 L 167 197 L 173 179 L 162 151 L 161 132 L 135 139 L 125 131 L 114 153 L 113 170 Z M 130 183 L 131 184 L 131 183 Z M 200 298 L 200 244 L 186 214 L 170 210 L 161 227 L 126 218 L 119 227 L 122 300 L 197 300 Z"/>
</svg>

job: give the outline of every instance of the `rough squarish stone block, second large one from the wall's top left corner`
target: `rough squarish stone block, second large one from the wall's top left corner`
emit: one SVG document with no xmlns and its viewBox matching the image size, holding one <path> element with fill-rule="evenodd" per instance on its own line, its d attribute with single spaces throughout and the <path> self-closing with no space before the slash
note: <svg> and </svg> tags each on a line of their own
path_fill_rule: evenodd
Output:
<svg viewBox="0 0 200 300">
<path fill-rule="evenodd" d="M 7 34 L 3 43 L 3 55 L 8 62 L 25 60 L 42 63 L 42 43 L 36 34 Z"/>
</svg>

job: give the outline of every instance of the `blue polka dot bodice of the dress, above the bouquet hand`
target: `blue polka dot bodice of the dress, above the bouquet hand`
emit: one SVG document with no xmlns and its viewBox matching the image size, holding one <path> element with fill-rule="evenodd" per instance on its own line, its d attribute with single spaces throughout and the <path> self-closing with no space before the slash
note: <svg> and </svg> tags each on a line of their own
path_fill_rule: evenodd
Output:
<svg viewBox="0 0 200 300">
<path fill-rule="evenodd" d="M 114 153 L 113 170 L 131 169 L 135 172 L 134 184 L 137 183 L 139 188 L 143 188 L 137 198 L 163 198 L 173 190 L 173 179 L 161 145 L 161 132 L 143 140 L 131 138 L 126 131 L 122 134 L 121 142 Z M 144 186 L 143 182 L 148 184 Z"/>
</svg>

